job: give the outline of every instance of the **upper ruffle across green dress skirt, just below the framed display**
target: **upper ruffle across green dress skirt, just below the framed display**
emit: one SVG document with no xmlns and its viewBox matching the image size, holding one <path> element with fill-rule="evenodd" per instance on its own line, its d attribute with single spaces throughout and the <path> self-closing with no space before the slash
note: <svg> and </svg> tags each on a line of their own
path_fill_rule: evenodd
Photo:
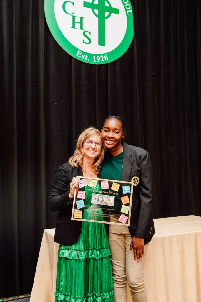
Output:
<svg viewBox="0 0 201 302">
<path fill-rule="evenodd" d="M 86 258 L 100 259 L 106 258 L 111 255 L 109 246 L 86 249 L 72 249 L 70 246 L 60 247 L 58 250 L 59 257 L 65 257 L 68 259 L 80 259 L 85 260 Z"/>
</svg>

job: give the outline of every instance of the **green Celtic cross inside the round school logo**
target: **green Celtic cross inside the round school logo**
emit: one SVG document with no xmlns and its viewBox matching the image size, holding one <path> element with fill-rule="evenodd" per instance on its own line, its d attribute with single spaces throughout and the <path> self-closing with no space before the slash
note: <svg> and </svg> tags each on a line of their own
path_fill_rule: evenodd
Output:
<svg viewBox="0 0 201 302">
<path fill-rule="evenodd" d="M 119 14 L 118 8 L 111 7 L 111 4 L 108 0 L 98 0 L 98 3 L 94 3 L 96 0 L 92 0 L 92 2 L 83 2 L 83 6 L 86 8 L 91 8 L 93 14 L 98 18 L 98 34 L 99 34 L 99 45 L 105 46 L 105 19 L 108 19 L 112 13 Z M 109 6 L 105 5 L 105 1 Z M 98 11 L 98 14 L 95 13 L 94 10 Z M 105 17 L 105 12 L 109 14 Z"/>
</svg>

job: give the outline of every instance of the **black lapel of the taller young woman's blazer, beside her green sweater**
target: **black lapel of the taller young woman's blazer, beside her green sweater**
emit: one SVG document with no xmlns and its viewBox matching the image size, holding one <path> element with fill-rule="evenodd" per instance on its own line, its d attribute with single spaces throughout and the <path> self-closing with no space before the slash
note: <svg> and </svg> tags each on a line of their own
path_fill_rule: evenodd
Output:
<svg viewBox="0 0 201 302">
<path fill-rule="evenodd" d="M 129 176 L 133 164 L 133 155 L 132 150 L 130 149 L 127 143 L 123 141 L 123 148 L 124 148 L 124 157 L 123 157 L 123 170 L 122 170 L 122 181 L 126 182 L 129 181 Z"/>
</svg>

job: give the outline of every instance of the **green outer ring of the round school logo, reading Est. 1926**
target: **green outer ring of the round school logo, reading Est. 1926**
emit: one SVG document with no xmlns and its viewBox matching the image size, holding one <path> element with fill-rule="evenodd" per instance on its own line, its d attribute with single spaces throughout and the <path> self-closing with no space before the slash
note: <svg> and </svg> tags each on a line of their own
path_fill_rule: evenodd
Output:
<svg viewBox="0 0 201 302">
<path fill-rule="evenodd" d="M 124 5 L 125 11 L 127 11 L 127 9 L 125 8 L 126 4 L 130 4 L 130 7 L 132 8 L 130 0 L 128 0 L 127 3 L 124 3 L 123 0 L 121 0 L 121 2 Z M 47 21 L 49 30 L 52 33 L 52 36 L 54 37 L 56 42 L 68 54 L 70 54 L 75 59 L 78 59 L 78 60 L 80 60 L 82 62 L 85 62 L 85 63 L 96 64 L 96 65 L 110 63 L 110 62 L 113 62 L 116 59 L 120 58 L 126 52 L 126 50 L 129 48 L 130 43 L 133 40 L 134 31 L 133 31 L 133 8 L 132 8 L 132 14 L 131 15 L 127 14 L 127 28 L 126 28 L 125 36 L 124 36 L 123 40 L 121 41 L 121 43 L 118 45 L 118 47 L 116 47 L 115 49 L 111 50 L 108 53 L 100 53 L 100 54 L 87 53 L 87 52 L 75 47 L 73 44 L 71 44 L 66 39 L 66 37 L 64 37 L 64 35 L 62 34 L 60 28 L 58 27 L 58 24 L 57 24 L 57 21 L 56 21 L 56 18 L 55 18 L 54 6 L 55 6 L 55 0 L 45 0 L 45 2 L 44 2 L 45 17 L 46 17 L 46 21 Z M 78 56 L 76 56 L 76 53 L 77 53 L 78 50 L 80 50 L 85 55 L 87 54 L 88 59 L 90 59 L 90 61 L 87 61 L 85 59 L 81 59 Z M 107 55 L 108 60 L 104 61 L 104 63 L 100 62 L 100 61 L 99 62 L 93 62 L 92 61 L 93 56 L 105 56 L 105 55 Z"/>
</svg>

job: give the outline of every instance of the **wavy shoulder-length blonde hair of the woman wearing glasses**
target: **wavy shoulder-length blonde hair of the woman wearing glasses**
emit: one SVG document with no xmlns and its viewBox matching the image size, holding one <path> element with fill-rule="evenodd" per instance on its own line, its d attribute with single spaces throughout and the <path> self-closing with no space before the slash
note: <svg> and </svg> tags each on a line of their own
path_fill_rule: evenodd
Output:
<svg viewBox="0 0 201 302">
<path fill-rule="evenodd" d="M 94 128 L 94 127 L 89 127 L 86 128 L 78 137 L 77 140 L 77 145 L 76 145 L 76 149 L 75 152 L 73 154 L 73 156 L 71 156 L 68 161 L 69 164 L 73 167 L 77 167 L 77 164 L 79 163 L 80 167 L 83 169 L 83 155 L 84 155 L 84 151 L 83 151 L 83 143 L 85 140 L 90 139 L 90 137 L 99 135 L 100 136 L 100 140 L 101 140 L 101 133 L 98 129 Z M 92 166 L 92 171 L 94 171 L 96 174 L 99 173 L 100 170 L 100 165 L 101 162 L 104 158 L 104 154 L 105 154 L 105 145 L 102 144 L 101 146 L 101 152 L 98 156 L 96 156 L 96 158 L 94 159 L 94 163 Z"/>
</svg>

